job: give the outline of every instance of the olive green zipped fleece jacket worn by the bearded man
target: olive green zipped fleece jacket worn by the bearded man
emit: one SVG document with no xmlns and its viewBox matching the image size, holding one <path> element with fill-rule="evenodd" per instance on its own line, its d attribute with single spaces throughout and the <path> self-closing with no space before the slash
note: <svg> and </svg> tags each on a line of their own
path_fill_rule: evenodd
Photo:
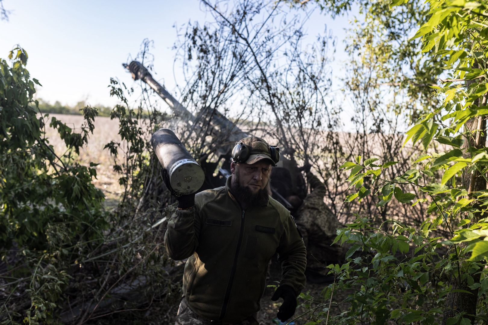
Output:
<svg viewBox="0 0 488 325">
<path fill-rule="evenodd" d="M 183 294 L 208 320 L 238 323 L 261 308 L 269 260 L 282 263 L 280 285 L 298 295 L 305 285 L 306 251 L 288 210 L 273 198 L 242 210 L 225 187 L 196 194 L 195 207 L 177 209 L 164 245 L 174 260 L 188 258 Z"/>
</svg>

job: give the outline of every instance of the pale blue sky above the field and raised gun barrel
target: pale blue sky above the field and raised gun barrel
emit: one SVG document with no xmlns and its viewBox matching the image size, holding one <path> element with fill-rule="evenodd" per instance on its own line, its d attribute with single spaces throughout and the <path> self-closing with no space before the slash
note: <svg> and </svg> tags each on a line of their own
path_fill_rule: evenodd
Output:
<svg viewBox="0 0 488 325">
<path fill-rule="evenodd" d="M 171 92 L 174 74 L 179 74 L 178 67 L 173 74 L 173 26 L 189 20 L 212 20 L 199 0 L 4 0 L 3 5 L 11 14 L 9 21 L 0 21 L 0 57 L 7 57 L 20 44 L 29 55 L 31 76 L 43 86 L 37 97 L 68 105 L 80 100 L 91 105 L 116 104 L 107 88 L 110 77 L 133 85 L 121 64 L 130 55 L 137 55 L 144 38 L 154 40 L 151 53 L 155 55 L 155 78 Z M 342 40 L 347 19 L 332 20 L 317 11 L 305 30 L 313 39 L 327 24 L 338 38 L 336 57 L 344 58 Z M 337 83 L 333 85 L 333 89 L 338 87 Z"/>
</svg>

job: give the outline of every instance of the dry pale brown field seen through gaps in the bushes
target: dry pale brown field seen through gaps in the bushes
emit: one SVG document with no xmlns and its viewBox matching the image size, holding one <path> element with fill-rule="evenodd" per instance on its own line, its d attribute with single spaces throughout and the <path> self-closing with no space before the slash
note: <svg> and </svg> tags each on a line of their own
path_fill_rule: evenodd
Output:
<svg viewBox="0 0 488 325">
<path fill-rule="evenodd" d="M 69 127 L 71 127 L 74 132 L 80 132 L 80 127 L 84 121 L 83 116 L 81 115 L 50 114 L 49 120 L 46 121 L 47 125 L 49 125 L 51 117 L 56 117 L 57 119 L 63 121 Z M 122 142 L 121 137 L 118 134 L 119 123 L 117 119 L 111 120 L 109 117 L 98 116 L 96 117 L 94 124 L 95 129 L 93 131 L 93 134 L 90 134 L 88 144 L 81 148 L 80 155 L 79 157 L 77 157 L 77 161 L 84 165 L 88 165 L 90 162 L 99 164 L 95 167 L 95 169 L 97 170 L 97 179 L 94 179 L 93 183 L 105 194 L 106 204 L 109 207 L 113 207 L 116 205 L 117 200 L 122 195 L 123 187 L 119 185 L 119 178 L 121 177 L 120 174 L 115 172 L 113 169 L 114 157 L 110 155 L 108 149 L 103 149 L 103 147 L 110 141 L 115 141 L 119 143 Z M 240 125 L 240 127 L 243 130 L 247 130 L 248 128 L 248 126 L 246 125 Z M 254 134 L 264 137 L 269 143 L 275 143 L 276 141 L 275 139 L 270 137 L 269 134 L 265 134 L 263 130 L 256 130 Z M 59 138 L 56 130 L 46 127 L 46 135 L 49 138 L 50 144 L 53 145 L 55 152 L 58 155 L 61 155 L 65 152 L 66 146 L 64 145 L 64 142 Z M 147 137 L 149 138 L 150 134 L 147 134 Z M 385 137 L 391 137 L 391 139 L 386 141 Z M 340 143 L 340 146 L 344 150 L 344 157 L 343 159 L 339 158 L 340 161 L 336 162 L 338 163 L 337 167 L 339 167 L 339 165 L 344 163 L 346 160 L 353 160 L 356 155 L 360 154 L 362 150 L 365 150 L 368 156 L 364 157 L 364 159 L 369 157 L 387 157 L 389 160 L 401 161 L 401 163 L 397 166 L 393 166 L 391 170 L 396 173 L 403 173 L 410 168 L 408 167 L 410 165 L 409 161 L 420 154 L 419 148 L 412 148 L 409 144 L 401 149 L 401 144 L 404 141 L 403 139 L 403 134 L 369 134 L 366 141 L 366 148 L 361 148 L 361 142 L 363 141 L 363 139 L 360 137 L 360 135 L 355 133 L 340 132 L 338 133 L 337 141 Z M 330 140 L 324 138 L 324 141 Z M 388 145 L 388 143 L 393 144 L 393 148 L 391 147 L 391 145 Z M 321 146 L 316 148 L 316 151 L 322 150 Z M 123 146 L 123 142 L 122 148 L 125 148 Z M 445 146 L 438 144 L 436 149 L 436 151 L 443 151 L 445 150 Z M 318 154 L 318 156 L 321 156 L 324 160 L 333 160 L 334 157 L 332 155 L 332 152 Z M 121 162 L 122 160 L 124 160 L 124 158 L 125 153 L 120 150 L 117 159 L 119 162 Z M 329 207 L 331 207 L 331 209 L 336 213 L 340 221 L 343 224 L 346 224 L 348 222 L 351 222 L 350 218 L 353 218 L 351 212 L 357 211 L 351 210 L 352 205 L 344 205 L 344 199 L 349 193 L 348 184 L 345 181 L 347 177 L 343 177 L 345 176 L 345 173 L 342 171 L 328 170 L 327 166 L 331 165 L 331 162 L 333 163 L 333 161 L 325 162 L 323 160 L 319 160 L 317 162 L 317 167 L 322 170 L 322 176 L 325 180 L 325 186 L 328 191 L 327 195 L 325 196 L 325 203 Z M 386 161 L 380 160 L 380 163 L 384 162 Z M 341 175 L 341 173 L 344 174 Z M 406 211 L 395 212 L 396 213 L 394 213 L 394 215 L 399 220 L 402 220 L 402 215 L 407 213 Z"/>
</svg>

